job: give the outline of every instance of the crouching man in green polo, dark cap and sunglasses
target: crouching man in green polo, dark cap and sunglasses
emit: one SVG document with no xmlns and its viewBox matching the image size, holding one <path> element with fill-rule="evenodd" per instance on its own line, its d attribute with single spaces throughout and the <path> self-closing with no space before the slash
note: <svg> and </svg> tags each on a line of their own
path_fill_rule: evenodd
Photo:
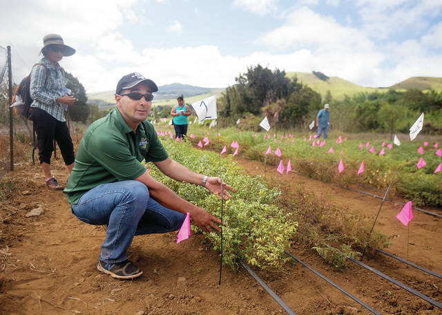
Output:
<svg viewBox="0 0 442 315">
<path fill-rule="evenodd" d="M 91 124 L 79 144 L 64 193 L 72 212 L 90 225 L 107 225 L 97 269 L 114 278 L 132 279 L 142 271 L 127 260 L 133 236 L 180 228 L 186 213 L 204 231 L 220 231 L 221 220 L 180 198 L 157 182 L 141 164 L 153 162 L 165 175 L 200 184 L 220 194 L 220 178 L 186 169 L 166 153 L 146 120 L 157 85 L 138 73 L 119 80 L 117 108 Z M 235 191 L 224 184 L 225 189 Z M 231 195 L 226 191 L 226 198 Z"/>
</svg>

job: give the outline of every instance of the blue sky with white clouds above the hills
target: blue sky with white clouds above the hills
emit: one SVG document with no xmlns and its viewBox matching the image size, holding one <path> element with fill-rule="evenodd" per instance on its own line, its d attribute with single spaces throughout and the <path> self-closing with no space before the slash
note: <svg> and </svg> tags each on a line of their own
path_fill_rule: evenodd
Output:
<svg viewBox="0 0 442 315">
<path fill-rule="evenodd" d="M 226 87 L 247 67 L 321 71 L 362 86 L 442 73 L 442 0 L 25 0 L 0 12 L 14 77 L 58 33 L 88 92 L 137 71 L 158 85 Z M 17 22 L 20 17 L 21 21 Z"/>
</svg>

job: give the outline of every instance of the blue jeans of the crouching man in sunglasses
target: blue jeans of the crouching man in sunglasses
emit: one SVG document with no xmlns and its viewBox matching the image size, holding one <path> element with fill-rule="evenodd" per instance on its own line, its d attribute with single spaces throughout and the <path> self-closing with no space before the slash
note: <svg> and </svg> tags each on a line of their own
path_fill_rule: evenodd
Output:
<svg viewBox="0 0 442 315">
<path fill-rule="evenodd" d="M 153 198 L 145 184 L 125 180 L 90 189 L 71 206 L 74 215 L 90 225 L 108 225 L 99 259 L 126 260 L 133 236 L 180 229 L 186 215 L 168 209 Z"/>
</svg>

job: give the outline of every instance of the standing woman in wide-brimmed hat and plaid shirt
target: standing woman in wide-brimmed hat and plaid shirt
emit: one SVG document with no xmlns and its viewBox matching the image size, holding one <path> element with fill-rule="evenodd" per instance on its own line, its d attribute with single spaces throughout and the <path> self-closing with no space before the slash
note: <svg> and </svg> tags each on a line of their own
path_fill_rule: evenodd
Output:
<svg viewBox="0 0 442 315">
<path fill-rule="evenodd" d="M 50 158 L 57 142 L 68 171 L 72 171 L 75 153 L 64 111 L 75 102 L 68 93 L 64 69 L 59 61 L 75 54 L 75 49 L 64 44 L 60 35 L 50 34 L 43 38 L 41 54 L 44 57 L 32 67 L 30 74 L 31 117 L 37 132 L 39 160 L 49 189 L 63 189 L 50 172 Z"/>
</svg>

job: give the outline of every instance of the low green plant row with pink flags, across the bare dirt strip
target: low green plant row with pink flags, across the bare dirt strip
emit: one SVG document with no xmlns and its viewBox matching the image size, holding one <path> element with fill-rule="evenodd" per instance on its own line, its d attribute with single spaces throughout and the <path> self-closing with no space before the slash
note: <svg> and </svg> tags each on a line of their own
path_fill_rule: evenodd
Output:
<svg viewBox="0 0 442 315">
<path fill-rule="evenodd" d="M 194 128 L 195 138 L 192 139 L 197 144 L 206 136 L 206 128 Z M 218 150 L 218 138 L 215 130 L 211 130 L 209 135 L 211 142 L 204 149 Z M 287 165 L 291 160 L 291 166 L 294 171 L 303 173 L 311 178 L 324 182 L 334 182 L 343 186 L 348 184 L 361 184 L 367 187 L 385 190 L 388 184 L 392 184 L 392 193 L 402 195 L 407 200 L 412 200 L 416 205 L 428 205 L 433 207 L 442 207 L 442 172 L 434 174 L 434 169 L 442 162 L 442 158 L 434 154 L 434 143 L 430 142 L 429 146 L 424 148 L 424 154 L 417 152 L 419 146 L 423 146 L 423 141 L 403 140 L 401 146 L 394 146 L 393 149 L 385 147 L 385 155 L 378 155 L 381 151 L 381 144 L 386 139 L 375 135 L 364 140 L 358 139 L 353 135 L 342 135 L 348 137 L 340 144 L 336 144 L 338 133 L 329 134 L 325 146 L 312 147 L 308 141 L 309 135 L 295 135 L 294 138 L 286 138 L 279 140 L 281 135 L 287 133 L 278 133 L 277 140 L 274 142 L 273 133 L 251 133 L 247 131 L 238 131 L 236 128 L 227 128 L 220 131 L 220 147 L 227 146 L 227 154 L 233 153 L 235 149 L 230 144 L 233 140 L 240 144 L 239 154 L 252 159 L 264 162 L 265 151 L 271 146 L 272 153 L 267 155 L 268 165 L 278 165 L 282 159 Z M 253 136 L 256 135 L 256 136 Z M 271 139 L 263 139 L 263 135 L 271 135 Z M 307 136 L 307 141 L 304 141 Z M 292 143 L 291 140 L 294 139 Z M 322 139 L 321 139 L 322 140 Z M 374 146 L 376 153 L 369 153 L 365 144 L 370 142 L 370 146 Z M 359 148 L 359 144 L 363 143 L 363 149 Z M 387 142 L 391 143 L 391 142 Z M 276 147 L 280 147 L 282 157 L 274 154 Z M 327 153 L 330 147 L 334 148 L 334 153 Z M 439 146 L 442 142 L 439 141 Z M 427 163 L 422 169 L 417 169 L 416 164 L 419 158 L 423 157 Z M 338 173 L 338 163 L 343 160 L 345 170 Z M 361 165 L 365 162 L 365 172 L 356 175 Z"/>
</svg>

